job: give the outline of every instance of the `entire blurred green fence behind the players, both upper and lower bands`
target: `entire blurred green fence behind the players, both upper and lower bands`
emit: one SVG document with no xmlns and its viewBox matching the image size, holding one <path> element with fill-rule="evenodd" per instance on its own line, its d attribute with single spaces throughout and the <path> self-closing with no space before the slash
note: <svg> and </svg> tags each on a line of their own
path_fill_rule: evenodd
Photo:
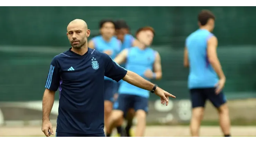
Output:
<svg viewBox="0 0 256 143">
<path fill-rule="evenodd" d="M 127 20 L 131 33 L 153 26 L 153 47 L 163 65 L 163 79 L 156 83 L 178 99 L 189 98 L 183 47 L 185 37 L 197 29 L 201 9 L 212 10 L 217 18 L 214 34 L 228 98 L 256 97 L 253 7 L 1 7 L 0 101 L 42 99 L 49 63 L 70 47 L 66 26 L 77 18 L 88 23 L 92 36 L 98 34 L 99 21 L 107 18 Z"/>
</svg>

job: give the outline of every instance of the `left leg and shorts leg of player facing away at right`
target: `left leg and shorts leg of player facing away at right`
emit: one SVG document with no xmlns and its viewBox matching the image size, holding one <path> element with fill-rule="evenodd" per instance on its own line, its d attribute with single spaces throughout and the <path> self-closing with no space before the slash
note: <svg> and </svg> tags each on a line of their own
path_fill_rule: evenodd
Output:
<svg viewBox="0 0 256 143">
<path fill-rule="evenodd" d="M 192 117 L 190 120 L 191 136 L 199 136 L 199 129 L 204 114 L 205 101 L 202 89 L 190 89 L 190 98 L 192 102 Z"/>
</svg>

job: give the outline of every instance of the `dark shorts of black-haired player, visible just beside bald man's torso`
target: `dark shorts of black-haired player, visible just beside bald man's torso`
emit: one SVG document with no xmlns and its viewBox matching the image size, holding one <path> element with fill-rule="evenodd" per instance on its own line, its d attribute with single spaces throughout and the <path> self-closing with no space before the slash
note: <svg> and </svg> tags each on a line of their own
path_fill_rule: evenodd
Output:
<svg viewBox="0 0 256 143">
<path fill-rule="evenodd" d="M 114 101 L 116 81 L 104 80 L 104 100 Z"/>
</svg>

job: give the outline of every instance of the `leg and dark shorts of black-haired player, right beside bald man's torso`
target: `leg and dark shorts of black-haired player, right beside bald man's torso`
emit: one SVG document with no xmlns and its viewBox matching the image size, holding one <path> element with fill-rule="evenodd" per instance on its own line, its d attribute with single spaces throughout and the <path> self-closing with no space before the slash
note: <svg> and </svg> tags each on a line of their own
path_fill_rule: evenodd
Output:
<svg viewBox="0 0 256 143">
<path fill-rule="evenodd" d="M 104 80 L 104 124 L 107 127 L 113 107 L 113 89 L 115 83 L 111 80 Z"/>
</svg>

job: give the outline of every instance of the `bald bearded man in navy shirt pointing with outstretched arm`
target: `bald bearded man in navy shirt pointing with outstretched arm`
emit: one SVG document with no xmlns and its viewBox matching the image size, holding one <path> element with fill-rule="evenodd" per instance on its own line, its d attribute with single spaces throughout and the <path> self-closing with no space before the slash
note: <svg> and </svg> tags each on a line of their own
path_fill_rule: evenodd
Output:
<svg viewBox="0 0 256 143">
<path fill-rule="evenodd" d="M 150 90 L 168 105 L 169 94 L 157 85 L 116 64 L 112 58 L 88 48 L 90 30 L 83 20 L 73 20 L 67 26 L 69 50 L 56 55 L 50 65 L 43 96 L 42 131 L 53 135 L 49 120 L 55 91 L 59 88 L 57 128 L 55 136 L 89 137 L 104 134 L 104 76 Z"/>
</svg>

